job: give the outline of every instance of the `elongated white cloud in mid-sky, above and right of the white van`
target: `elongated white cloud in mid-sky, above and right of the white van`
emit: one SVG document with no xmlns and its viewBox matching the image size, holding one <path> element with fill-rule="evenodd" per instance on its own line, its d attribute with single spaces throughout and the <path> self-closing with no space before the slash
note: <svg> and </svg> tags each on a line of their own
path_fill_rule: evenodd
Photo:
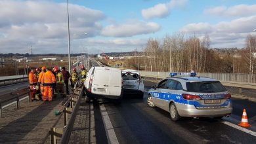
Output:
<svg viewBox="0 0 256 144">
<path fill-rule="evenodd" d="M 160 26 L 154 22 L 141 22 L 137 20 L 125 24 L 112 24 L 102 29 L 102 35 L 107 37 L 132 37 L 134 35 L 154 33 L 160 30 Z"/>
</svg>

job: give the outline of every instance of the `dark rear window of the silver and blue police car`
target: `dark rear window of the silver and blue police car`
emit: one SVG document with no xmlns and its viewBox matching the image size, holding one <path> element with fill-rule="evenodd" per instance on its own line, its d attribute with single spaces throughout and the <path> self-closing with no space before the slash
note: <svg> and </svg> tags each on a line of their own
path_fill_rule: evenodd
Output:
<svg viewBox="0 0 256 144">
<path fill-rule="evenodd" d="M 188 92 L 214 93 L 226 91 L 226 88 L 219 81 L 186 82 L 186 87 Z"/>
</svg>

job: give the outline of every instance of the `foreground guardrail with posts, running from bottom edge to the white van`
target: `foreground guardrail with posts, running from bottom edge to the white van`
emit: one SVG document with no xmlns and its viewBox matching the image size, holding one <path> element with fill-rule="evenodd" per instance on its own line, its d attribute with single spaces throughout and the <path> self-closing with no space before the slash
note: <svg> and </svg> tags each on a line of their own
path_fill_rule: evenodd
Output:
<svg viewBox="0 0 256 144">
<path fill-rule="evenodd" d="M 68 143 L 72 128 L 74 126 L 75 117 L 77 115 L 78 107 L 83 96 L 83 82 L 74 88 L 74 92 L 64 105 L 55 112 L 55 115 L 64 115 L 63 128 L 51 128 L 49 131 L 50 141 L 55 144 L 60 139 L 60 143 Z"/>
</svg>

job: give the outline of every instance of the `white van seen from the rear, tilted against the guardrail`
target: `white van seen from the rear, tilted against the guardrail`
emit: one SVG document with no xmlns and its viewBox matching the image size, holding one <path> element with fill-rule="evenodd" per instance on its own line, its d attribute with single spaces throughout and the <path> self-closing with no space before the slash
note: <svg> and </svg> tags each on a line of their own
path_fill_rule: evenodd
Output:
<svg viewBox="0 0 256 144">
<path fill-rule="evenodd" d="M 120 69 L 91 67 L 84 84 L 87 96 L 90 98 L 121 99 L 123 97 Z"/>
</svg>

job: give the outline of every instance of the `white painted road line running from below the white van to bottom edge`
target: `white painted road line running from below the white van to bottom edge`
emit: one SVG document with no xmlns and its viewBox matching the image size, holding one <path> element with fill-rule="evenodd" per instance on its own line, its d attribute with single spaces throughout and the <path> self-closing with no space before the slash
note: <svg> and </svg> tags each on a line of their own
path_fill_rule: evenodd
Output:
<svg viewBox="0 0 256 144">
<path fill-rule="evenodd" d="M 100 113 L 103 118 L 103 123 L 104 123 L 105 129 L 106 129 L 108 143 L 119 144 L 117 137 L 116 137 L 116 133 L 113 128 L 113 125 L 110 121 L 110 117 L 108 117 L 108 112 L 106 111 L 106 107 L 104 105 L 100 105 Z"/>
</svg>

